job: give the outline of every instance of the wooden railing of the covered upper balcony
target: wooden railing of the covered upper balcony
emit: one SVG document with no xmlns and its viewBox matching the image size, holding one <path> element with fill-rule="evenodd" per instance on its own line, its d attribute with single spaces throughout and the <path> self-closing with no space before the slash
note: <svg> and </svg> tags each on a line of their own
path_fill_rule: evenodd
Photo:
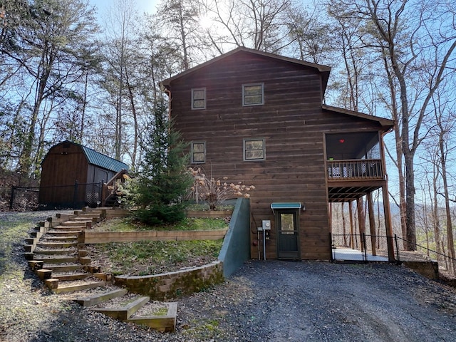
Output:
<svg viewBox="0 0 456 342">
<path fill-rule="evenodd" d="M 383 180 L 380 159 L 328 160 L 328 180 Z"/>
</svg>

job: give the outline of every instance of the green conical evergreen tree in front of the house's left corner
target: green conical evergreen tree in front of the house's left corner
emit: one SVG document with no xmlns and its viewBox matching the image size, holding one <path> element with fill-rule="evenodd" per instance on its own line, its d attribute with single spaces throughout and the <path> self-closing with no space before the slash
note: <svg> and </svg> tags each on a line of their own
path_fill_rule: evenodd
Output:
<svg viewBox="0 0 456 342">
<path fill-rule="evenodd" d="M 192 178 L 187 172 L 188 155 L 180 133 L 172 129 L 165 103 L 155 107 L 155 122 L 143 149 L 145 157 L 136 177 L 136 216 L 146 224 L 179 222 L 185 218 L 186 204 L 181 199 L 188 192 Z"/>
</svg>

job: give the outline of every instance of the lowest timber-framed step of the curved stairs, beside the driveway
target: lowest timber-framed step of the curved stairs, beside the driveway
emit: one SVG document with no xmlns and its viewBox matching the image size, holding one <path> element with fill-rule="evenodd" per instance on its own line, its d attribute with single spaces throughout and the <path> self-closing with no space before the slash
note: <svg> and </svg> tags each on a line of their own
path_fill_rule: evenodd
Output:
<svg viewBox="0 0 456 342">
<path fill-rule="evenodd" d="M 172 303 L 163 303 L 164 306 L 167 306 L 166 314 L 142 314 L 141 310 L 138 310 L 130 318 L 128 322 L 141 324 L 143 326 L 148 326 L 157 331 L 163 332 L 173 332 L 176 329 L 176 318 L 177 318 L 177 302 Z M 147 304 L 146 304 L 147 306 Z M 146 306 L 143 306 L 145 308 Z"/>
</svg>

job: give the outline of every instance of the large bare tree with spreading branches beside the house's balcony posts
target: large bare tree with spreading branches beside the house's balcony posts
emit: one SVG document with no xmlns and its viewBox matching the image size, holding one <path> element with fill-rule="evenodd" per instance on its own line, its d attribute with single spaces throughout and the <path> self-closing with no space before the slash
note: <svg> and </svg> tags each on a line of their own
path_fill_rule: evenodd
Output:
<svg viewBox="0 0 456 342">
<path fill-rule="evenodd" d="M 356 46 L 344 48 L 370 58 L 366 68 L 347 69 L 355 72 L 349 79 L 373 76 L 361 83 L 363 108 L 374 115 L 390 113 L 395 120 L 392 160 L 398 168 L 403 237 L 406 249 L 415 250 L 415 155 L 429 135 L 425 124 L 432 121 L 437 90 L 455 101 L 454 94 L 442 93 L 442 84 L 455 77 L 456 11 L 447 1 L 407 0 L 336 0 L 328 9 L 339 27 L 357 27 L 351 32 Z"/>
</svg>

